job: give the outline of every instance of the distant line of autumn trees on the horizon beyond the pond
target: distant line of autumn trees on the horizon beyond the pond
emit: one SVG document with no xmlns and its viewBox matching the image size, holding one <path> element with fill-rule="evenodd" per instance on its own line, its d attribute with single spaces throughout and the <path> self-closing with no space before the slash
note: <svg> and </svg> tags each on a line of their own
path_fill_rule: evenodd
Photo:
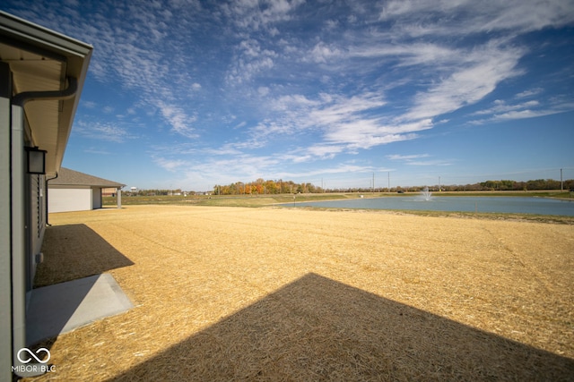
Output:
<svg viewBox="0 0 574 382">
<path fill-rule="evenodd" d="M 421 191 L 425 186 L 418 187 L 353 187 L 353 188 L 322 188 L 312 183 L 294 183 L 293 181 L 273 181 L 257 179 L 250 183 L 230 183 L 227 185 L 216 184 L 213 186 L 213 195 L 265 195 L 279 193 L 321 193 L 321 192 L 397 192 L 397 191 Z M 431 191 L 438 191 L 439 185 L 429 186 Z M 510 180 L 486 181 L 464 185 L 440 185 L 442 191 L 532 191 L 532 190 L 560 190 L 561 182 L 553 179 L 537 179 L 527 182 Z M 574 180 L 563 182 L 563 189 L 574 189 Z"/>
</svg>

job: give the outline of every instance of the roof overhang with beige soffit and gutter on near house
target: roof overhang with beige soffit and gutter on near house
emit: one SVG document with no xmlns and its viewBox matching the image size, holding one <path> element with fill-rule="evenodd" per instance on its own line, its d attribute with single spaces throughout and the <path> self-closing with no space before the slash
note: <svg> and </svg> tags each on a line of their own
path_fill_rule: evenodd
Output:
<svg viewBox="0 0 574 382">
<path fill-rule="evenodd" d="M 13 73 L 13 96 L 62 92 L 77 80 L 72 96 L 36 98 L 24 104 L 30 143 L 47 151 L 46 172 L 56 174 L 64 159 L 93 47 L 0 11 L 0 61 Z"/>
</svg>

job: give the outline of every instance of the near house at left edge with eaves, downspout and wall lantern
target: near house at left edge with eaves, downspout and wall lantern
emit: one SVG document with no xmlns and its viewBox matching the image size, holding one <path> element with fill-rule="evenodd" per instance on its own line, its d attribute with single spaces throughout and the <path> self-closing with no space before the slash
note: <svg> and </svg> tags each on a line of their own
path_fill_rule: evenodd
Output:
<svg viewBox="0 0 574 382">
<path fill-rule="evenodd" d="M 28 345 L 46 180 L 60 172 L 92 49 L 0 11 L 0 381 L 13 379 Z"/>
</svg>

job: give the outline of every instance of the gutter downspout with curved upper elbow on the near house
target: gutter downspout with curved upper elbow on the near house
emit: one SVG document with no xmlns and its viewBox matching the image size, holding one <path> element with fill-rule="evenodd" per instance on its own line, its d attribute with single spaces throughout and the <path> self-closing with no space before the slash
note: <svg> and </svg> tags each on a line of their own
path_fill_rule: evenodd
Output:
<svg viewBox="0 0 574 382">
<path fill-rule="evenodd" d="M 25 227 L 25 198 L 24 187 L 24 105 L 30 101 L 60 100 L 74 97 L 78 89 L 78 81 L 67 77 L 68 87 L 55 91 L 24 91 L 12 98 L 12 315 L 13 315 L 13 366 L 15 374 L 20 377 L 33 377 L 44 374 L 45 369 L 36 364 L 22 363 L 18 353 L 26 343 L 26 227 Z M 48 192 L 48 191 L 47 191 Z M 22 367 L 23 366 L 23 367 Z"/>
</svg>

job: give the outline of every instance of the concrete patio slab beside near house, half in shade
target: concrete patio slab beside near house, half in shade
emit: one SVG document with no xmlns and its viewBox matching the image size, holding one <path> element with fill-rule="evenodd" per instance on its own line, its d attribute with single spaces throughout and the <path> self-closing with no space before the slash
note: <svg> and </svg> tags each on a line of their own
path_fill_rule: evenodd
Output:
<svg viewBox="0 0 574 382">
<path fill-rule="evenodd" d="M 55 337 L 134 305 L 113 276 L 101 274 L 33 289 L 27 296 L 26 343 Z"/>
</svg>

